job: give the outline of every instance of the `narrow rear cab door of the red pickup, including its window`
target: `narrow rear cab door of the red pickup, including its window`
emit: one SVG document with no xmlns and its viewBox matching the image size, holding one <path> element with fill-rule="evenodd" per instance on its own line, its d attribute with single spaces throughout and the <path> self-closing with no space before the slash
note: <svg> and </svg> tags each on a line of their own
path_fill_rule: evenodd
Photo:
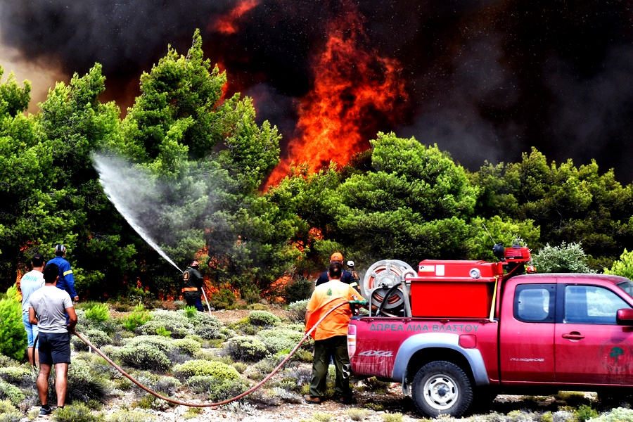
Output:
<svg viewBox="0 0 633 422">
<path fill-rule="evenodd" d="M 508 300 L 513 315 L 501 320 L 501 381 L 554 381 L 556 284 L 518 284 Z"/>
</svg>

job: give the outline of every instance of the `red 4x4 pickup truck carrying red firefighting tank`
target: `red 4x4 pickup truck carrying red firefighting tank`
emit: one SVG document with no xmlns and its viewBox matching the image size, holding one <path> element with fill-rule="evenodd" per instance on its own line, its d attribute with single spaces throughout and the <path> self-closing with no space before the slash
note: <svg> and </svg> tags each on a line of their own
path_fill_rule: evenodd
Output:
<svg viewBox="0 0 633 422">
<path fill-rule="evenodd" d="M 402 383 L 425 416 L 459 417 L 501 392 L 633 394 L 632 281 L 604 274 L 509 277 L 497 264 L 466 262 L 496 274 L 471 269 L 474 284 L 467 276 L 440 283 L 438 262 L 421 262 L 418 277 L 407 278 L 404 316 L 352 317 L 347 350 L 354 376 Z M 424 276 L 429 268 L 437 274 Z M 478 288 L 485 290 L 481 298 Z M 473 307 L 479 302 L 484 311 Z"/>
</svg>

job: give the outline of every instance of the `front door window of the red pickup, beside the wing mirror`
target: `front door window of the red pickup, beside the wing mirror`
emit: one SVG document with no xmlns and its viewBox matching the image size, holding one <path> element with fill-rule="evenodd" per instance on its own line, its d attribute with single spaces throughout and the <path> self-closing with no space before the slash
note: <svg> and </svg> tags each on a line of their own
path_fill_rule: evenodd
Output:
<svg viewBox="0 0 633 422">
<path fill-rule="evenodd" d="M 615 314 L 622 308 L 629 308 L 629 305 L 607 288 L 565 286 L 564 322 L 568 324 L 615 325 Z"/>
</svg>

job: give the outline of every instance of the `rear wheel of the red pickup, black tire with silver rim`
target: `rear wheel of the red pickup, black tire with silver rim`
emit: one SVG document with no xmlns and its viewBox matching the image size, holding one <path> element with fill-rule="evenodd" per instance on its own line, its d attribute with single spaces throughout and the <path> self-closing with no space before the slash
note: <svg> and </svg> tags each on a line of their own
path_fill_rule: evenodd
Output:
<svg viewBox="0 0 633 422">
<path fill-rule="evenodd" d="M 471 381 L 462 369 L 446 361 L 429 362 L 416 373 L 411 397 L 424 416 L 459 418 L 473 401 Z"/>
</svg>

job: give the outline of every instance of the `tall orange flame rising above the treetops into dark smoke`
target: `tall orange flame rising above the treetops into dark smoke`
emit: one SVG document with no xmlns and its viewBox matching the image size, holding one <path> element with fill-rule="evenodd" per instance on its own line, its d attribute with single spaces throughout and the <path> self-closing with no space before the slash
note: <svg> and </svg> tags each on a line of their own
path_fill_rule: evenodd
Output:
<svg viewBox="0 0 633 422">
<path fill-rule="evenodd" d="M 300 101 L 298 130 L 290 140 L 288 157 L 275 168 L 266 186 L 278 184 L 288 174 L 290 162 L 308 162 L 318 171 L 332 160 L 345 165 L 354 153 L 364 151 L 363 139 L 371 113 L 392 114 L 406 97 L 398 63 L 363 48 L 367 37 L 357 6 L 349 1 L 346 10 L 329 28 L 324 51 L 314 63 L 314 89 Z"/>
</svg>

